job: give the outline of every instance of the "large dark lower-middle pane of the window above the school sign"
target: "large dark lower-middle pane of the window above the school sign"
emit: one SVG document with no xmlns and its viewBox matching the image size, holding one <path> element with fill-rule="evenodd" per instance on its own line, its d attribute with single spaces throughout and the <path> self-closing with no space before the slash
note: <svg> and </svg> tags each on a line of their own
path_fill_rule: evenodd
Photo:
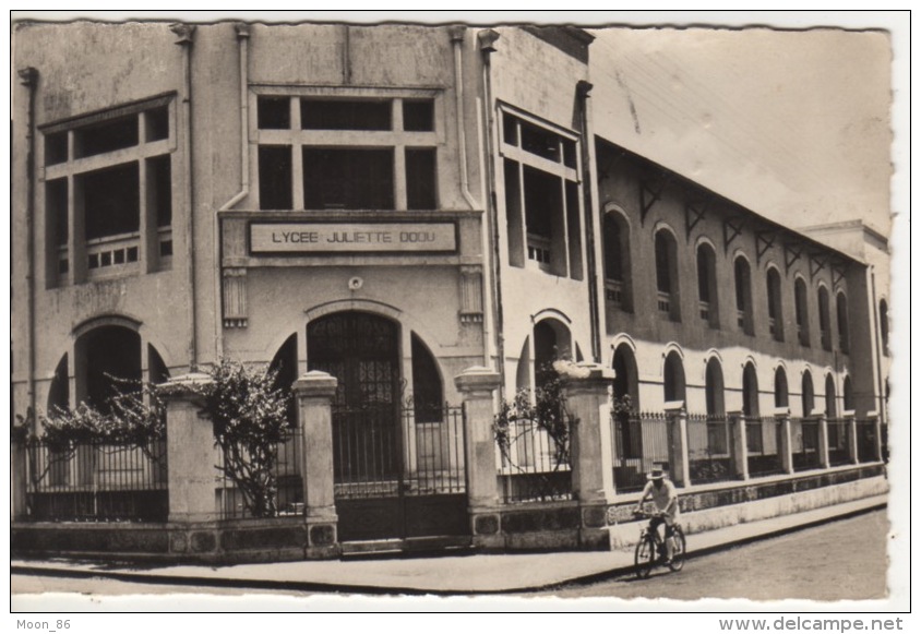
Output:
<svg viewBox="0 0 921 634">
<path fill-rule="evenodd" d="M 309 210 L 393 210 L 393 149 L 303 148 Z"/>
</svg>

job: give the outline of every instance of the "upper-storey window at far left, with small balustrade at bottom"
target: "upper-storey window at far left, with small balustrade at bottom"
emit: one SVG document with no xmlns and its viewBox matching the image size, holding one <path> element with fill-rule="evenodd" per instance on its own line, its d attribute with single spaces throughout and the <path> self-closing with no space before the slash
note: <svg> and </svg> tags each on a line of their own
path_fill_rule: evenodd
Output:
<svg viewBox="0 0 921 634">
<path fill-rule="evenodd" d="M 172 98 L 41 129 L 49 286 L 168 268 Z"/>
</svg>

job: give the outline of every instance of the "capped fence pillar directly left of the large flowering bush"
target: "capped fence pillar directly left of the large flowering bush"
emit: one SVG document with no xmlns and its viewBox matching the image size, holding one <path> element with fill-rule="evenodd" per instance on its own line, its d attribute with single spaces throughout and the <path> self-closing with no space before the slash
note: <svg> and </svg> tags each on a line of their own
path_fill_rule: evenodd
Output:
<svg viewBox="0 0 921 634">
<path fill-rule="evenodd" d="M 169 522 L 218 518 L 215 503 L 214 427 L 202 415 L 201 390 L 212 384 L 203 373 L 177 376 L 160 386 L 166 400 L 166 459 L 169 465 Z"/>
</svg>

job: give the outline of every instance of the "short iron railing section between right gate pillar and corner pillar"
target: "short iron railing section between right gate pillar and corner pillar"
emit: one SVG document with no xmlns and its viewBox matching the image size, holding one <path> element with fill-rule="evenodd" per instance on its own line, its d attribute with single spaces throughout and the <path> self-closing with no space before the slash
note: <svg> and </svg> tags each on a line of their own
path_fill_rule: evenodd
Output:
<svg viewBox="0 0 921 634">
<path fill-rule="evenodd" d="M 569 422 L 569 421 L 567 421 Z M 509 421 L 499 443 L 499 476 L 505 502 L 546 502 L 573 497 L 570 434 L 551 434 L 531 419 Z"/>
</svg>

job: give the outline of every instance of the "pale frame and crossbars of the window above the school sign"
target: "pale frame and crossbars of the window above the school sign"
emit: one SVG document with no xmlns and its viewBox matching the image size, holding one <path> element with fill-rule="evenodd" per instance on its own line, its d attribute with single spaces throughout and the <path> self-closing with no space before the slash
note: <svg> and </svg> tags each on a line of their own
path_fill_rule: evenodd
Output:
<svg viewBox="0 0 921 634">
<path fill-rule="evenodd" d="M 259 100 L 262 97 L 287 98 L 289 101 L 288 128 L 259 127 Z M 349 101 L 391 101 L 391 130 L 303 130 L 301 129 L 301 103 L 303 100 L 349 100 Z M 403 103 L 432 100 L 432 131 L 406 131 L 403 128 Z M 439 155 L 445 145 L 444 92 L 440 88 L 340 88 L 340 87 L 302 87 L 255 85 L 249 91 L 249 136 L 250 136 L 250 179 L 254 183 L 251 190 L 253 208 L 260 211 L 309 211 L 332 212 L 354 211 L 349 207 L 330 206 L 307 208 L 304 192 L 303 149 L 393 149 L 394 191 L 393 208 L 381 212 L 417 211 L 408 206 L 408 187 L 406 171 L 406 151 L 430 148 L 434 151 L 434 210 L 442 208 L 441 170 Z M 261 146 L 287 146 L 291 148 L 291 192 L 290 210 L 262 208 L 260 200 L 259 148 Z M 424 211 L 424 210 L 419 210 Z"/>
</svg>

